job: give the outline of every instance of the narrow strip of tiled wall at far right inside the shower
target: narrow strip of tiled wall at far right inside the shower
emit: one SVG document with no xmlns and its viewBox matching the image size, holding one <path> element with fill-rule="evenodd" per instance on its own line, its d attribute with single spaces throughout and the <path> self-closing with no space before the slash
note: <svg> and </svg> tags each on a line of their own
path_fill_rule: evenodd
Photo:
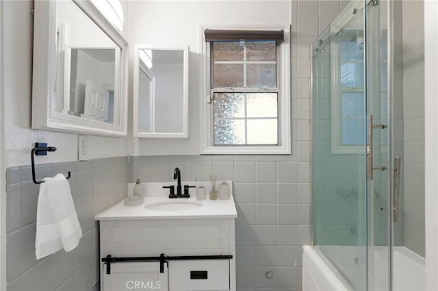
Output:
<svg viewBox="0 0 438 291">
<path fill-rule="evenodd" d="M 424 256 L 424 5 L 402 2 L 403 244 Z"/>
</svg>

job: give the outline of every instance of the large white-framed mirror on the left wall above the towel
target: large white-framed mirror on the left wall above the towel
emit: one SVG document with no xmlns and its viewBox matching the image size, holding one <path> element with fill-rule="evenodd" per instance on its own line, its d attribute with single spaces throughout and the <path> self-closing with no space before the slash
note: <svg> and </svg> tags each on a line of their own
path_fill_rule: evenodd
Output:
<svg viewBox="0 0 438 291">
<path fill-rule="evenodd" d="M 127 42 L 90 1 L 35 1 L 32 128 L 127 134 Z"/>
</svg>

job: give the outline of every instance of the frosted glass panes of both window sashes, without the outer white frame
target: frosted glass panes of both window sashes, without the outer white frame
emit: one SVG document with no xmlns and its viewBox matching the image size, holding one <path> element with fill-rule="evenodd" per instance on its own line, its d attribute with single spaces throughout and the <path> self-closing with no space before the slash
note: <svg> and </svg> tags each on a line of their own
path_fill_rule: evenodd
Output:
<svg viewBox="0 0 438 291">
<path fill-rule="evenodd" d="M 214 145 L 277 145 L 276 42 L 211 45 Z"/>
</svg>

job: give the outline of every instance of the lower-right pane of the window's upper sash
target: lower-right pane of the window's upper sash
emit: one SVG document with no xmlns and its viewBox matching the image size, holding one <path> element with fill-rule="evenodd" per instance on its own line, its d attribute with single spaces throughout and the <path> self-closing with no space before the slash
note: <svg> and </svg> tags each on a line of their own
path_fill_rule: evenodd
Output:
<svg viewBox="0 0 438 291">
<path fill-rule="evenodd" d="M 273 88 L 276 87 L 275 64 L 247 64 L 246 87 Z"/>
</svg>

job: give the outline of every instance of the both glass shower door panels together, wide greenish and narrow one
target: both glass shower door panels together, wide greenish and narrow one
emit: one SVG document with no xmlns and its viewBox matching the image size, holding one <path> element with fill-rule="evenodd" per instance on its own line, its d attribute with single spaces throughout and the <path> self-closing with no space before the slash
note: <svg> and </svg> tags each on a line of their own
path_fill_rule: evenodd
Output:
<svg viewBox="0 0 438 291">
<path fill-rule="evenodd" d="M 391 290 L 389 3 L 350 1 L 313 43 L 314 243 L 352 290 Z"/>
</svg>

